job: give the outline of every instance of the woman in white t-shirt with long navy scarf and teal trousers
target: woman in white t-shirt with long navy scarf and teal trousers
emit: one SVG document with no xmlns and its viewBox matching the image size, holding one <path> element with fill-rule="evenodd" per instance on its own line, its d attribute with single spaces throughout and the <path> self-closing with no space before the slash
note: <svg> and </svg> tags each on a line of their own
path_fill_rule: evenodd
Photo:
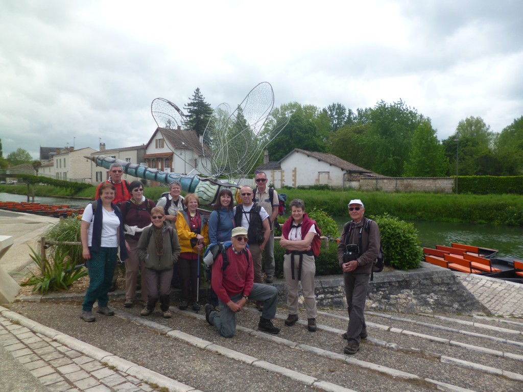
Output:
<svg viewBox="0 0 523 392">
<path fill-rule="evenodd" d="M 82 215 L 82 256 L 89 272 L 89 287 L 80 316 L 84 321 L 95 321 L 92 309 L 97 300 L 98 313 L 106 316 L 115 314 L 107 306 L 108 292 L 115 271 L 118 245 L 124 244 L 122 214 L 112 202 L 115 194 L 115 187 L 110 182 L 104 182 L 99 188 L 98 199 L 87 204 Z M 120 248 L 120 259 L 127 259 L 125 246 Z"/>
</svg>

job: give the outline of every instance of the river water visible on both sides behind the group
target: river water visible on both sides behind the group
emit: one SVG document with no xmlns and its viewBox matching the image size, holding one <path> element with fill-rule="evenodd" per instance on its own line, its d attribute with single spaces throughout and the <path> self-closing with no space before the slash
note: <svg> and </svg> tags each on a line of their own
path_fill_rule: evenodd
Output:
<svg viewBox="0 0 523 392">
<path fill-rule="evenodd" d="M 0 201 L 27 201 L 27 196 L 1 193 Z M 42 204 L 69 204 L 71 207 L 85 207 L 88 200 L 35 197 Z M 348 216 L 334 216 L 340 233 Z M 411 221 L 418 230 L 422 246 L 435 248 L 436 245 L 461 243 L 499 250 L 499 256 L 523 259 L 523 227 L 504 225 L 480 225 L 469 223 Z"/>
</svg>

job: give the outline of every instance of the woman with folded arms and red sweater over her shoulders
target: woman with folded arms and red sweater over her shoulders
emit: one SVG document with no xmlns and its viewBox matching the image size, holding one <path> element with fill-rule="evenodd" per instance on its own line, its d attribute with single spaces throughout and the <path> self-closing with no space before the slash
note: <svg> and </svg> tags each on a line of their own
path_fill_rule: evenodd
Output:
<svg viewBox="0 0 523 392">
<path fill-rule="evenodd" d="M 289 316 L 287 326 L 298 321 L 298 281 L 301 280 L 305 312 L 309 331 L 316 331 L 316 297 L 314 295 L 314 275 L 316 264 L 312 252 L 312 240 L 320 234 L 316 222 L 305 214 L 303 200 L 294 199 L 290 203 L 291 216 L 281 229 L 280 246 L 287 253 L 283 259 L 283 275 L 287 284 L 287 307 Z"/>
</svg>

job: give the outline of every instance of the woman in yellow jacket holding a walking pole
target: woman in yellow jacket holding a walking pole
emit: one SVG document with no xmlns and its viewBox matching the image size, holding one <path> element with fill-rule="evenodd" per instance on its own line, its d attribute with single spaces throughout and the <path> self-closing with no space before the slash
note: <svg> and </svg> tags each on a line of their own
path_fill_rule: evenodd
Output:
<svg viewBox="0 0 523 392">
<path fill-rule="evenodd" d="M 178 273 L 180 276 L 180 305 L 181 310 L 187 309 L 189 299 L 198 298 L 197 290 L 200 287 L 198 271 L 200 257 L 203 256 L 203 247 L 209 243 L 208 217 L 198 212 L 200 199 L 194 193 L 185 196 L 186 211 L 178 211 L 176 218 L 176 232 L 180 241 L 181 253 L 178 258 Z M 198 312 L 198 301 L 193 302 L 192 308 Z"/>
</svg>

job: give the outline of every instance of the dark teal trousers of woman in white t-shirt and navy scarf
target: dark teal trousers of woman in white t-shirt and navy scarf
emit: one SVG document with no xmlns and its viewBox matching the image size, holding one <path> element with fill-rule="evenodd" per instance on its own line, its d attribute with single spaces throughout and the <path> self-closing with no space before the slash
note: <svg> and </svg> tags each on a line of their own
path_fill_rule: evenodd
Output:
<svg viewBox="0 0 523 392">
<path fill-rule="evenodd" d="M 94 252 L 90 247 L 91 258 L 86 266 L 89 272 L 89 287 L 85 293 L 82 310 L 90 312 L 93 304 L 98 300 L 98 307 L 107 306 L 109 303 L 109 289 L 112 284 L 112 275 L 115 272 L 116 253 L 118 248 L 100 247 L 99 252 Z"/>
</svg>

